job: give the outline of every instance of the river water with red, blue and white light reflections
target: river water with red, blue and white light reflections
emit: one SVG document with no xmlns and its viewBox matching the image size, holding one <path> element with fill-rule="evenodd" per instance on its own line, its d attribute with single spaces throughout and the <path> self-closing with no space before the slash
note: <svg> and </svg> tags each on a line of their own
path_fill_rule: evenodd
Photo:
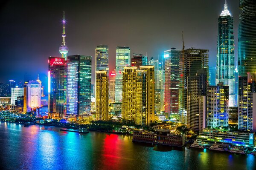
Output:
<svg viewBox="0 0 256 170">
<path fill-rule="evenodd" d="M 0 123 L 1 170 L 255 170 L 256 157 L 134 143 L 132 136 Z"/>
</svg>

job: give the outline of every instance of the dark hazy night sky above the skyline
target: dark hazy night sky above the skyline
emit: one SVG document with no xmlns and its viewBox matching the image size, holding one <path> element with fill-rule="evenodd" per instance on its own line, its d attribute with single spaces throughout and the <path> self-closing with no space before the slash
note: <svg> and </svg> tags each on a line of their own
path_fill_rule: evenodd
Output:
<svg viewBox="0 0 256 170">
<path fill-rule="evenodd" d="M 218 16 L 225 0 L 9 0 L 0 4 L 0 82 L 24 80 L 24 75 L 46 83 L 47 58 L 60 56 L 63 11 L 67 19 L 68 55 L 92 55 L 109 46 L 110 70 L 116 46 L 148 57 L 191 46 L 209 49 L 209 66 L 216 64 Z M 227 0 L 234 18 L 235 56 L 239 0 Z M 93 75 L 94 80 L 94 75 Z M 94 81 L 92 81 L 94 82 Z"/>
</svg>

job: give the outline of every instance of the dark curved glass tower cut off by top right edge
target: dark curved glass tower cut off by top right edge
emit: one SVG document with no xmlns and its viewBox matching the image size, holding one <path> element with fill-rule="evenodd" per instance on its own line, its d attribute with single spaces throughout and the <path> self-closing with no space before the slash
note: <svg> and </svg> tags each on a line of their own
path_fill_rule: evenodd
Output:
<svg viewBox="0 0 256 170">
<path fill-rule="evenodd" d="M 256 72 L 256 0 L 240 0 L 239 7 L 238 71 L 247 77 Z"/>
</svg>

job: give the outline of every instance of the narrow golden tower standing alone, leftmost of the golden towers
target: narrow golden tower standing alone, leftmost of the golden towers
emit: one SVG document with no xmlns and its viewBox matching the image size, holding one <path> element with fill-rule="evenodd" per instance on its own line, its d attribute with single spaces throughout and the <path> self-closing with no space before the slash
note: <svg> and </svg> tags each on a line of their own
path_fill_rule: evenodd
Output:
<svg viewBox="0 0 256 170">
<path fill-rule="evenodd" d="M 108 120 L 108 75 L 96 71 L 96 120 Z"/>
</svg>

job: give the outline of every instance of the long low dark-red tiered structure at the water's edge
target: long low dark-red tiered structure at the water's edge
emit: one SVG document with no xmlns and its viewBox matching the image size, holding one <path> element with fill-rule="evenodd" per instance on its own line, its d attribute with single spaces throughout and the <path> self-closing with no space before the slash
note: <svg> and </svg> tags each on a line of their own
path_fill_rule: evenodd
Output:
<svg viewBox="0 0 256 170">
<path fill-rule="evenodd" d="M 160 144 L 167 146 L 183 147 L 185 144 L 184 135 L 171 134 L 170 130 L 157 130 L 155 132 L 135 131 L 132 141 Z"/>
</svg>

